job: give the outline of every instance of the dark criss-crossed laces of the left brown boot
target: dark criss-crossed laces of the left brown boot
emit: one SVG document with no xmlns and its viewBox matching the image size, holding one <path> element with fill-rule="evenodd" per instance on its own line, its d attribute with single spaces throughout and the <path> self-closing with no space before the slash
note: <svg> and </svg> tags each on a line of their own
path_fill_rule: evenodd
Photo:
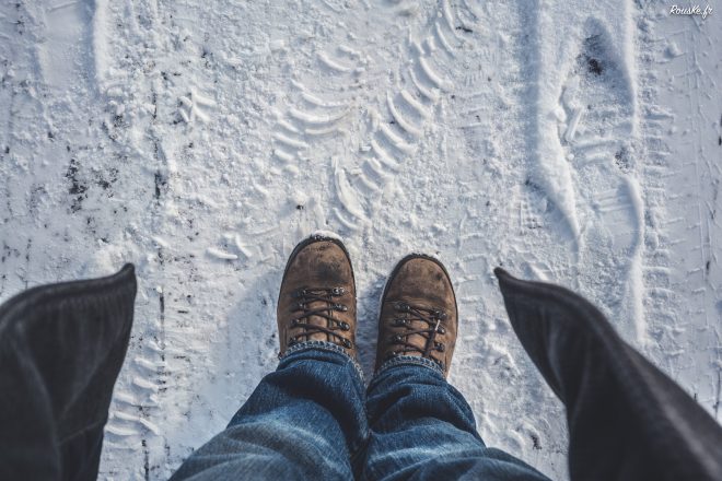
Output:
<svg viewBox="0 0 722 481">
<path fill-rule="evenodd" d="M 291 320 L 291 328 L 301 328 L 302 333 L 293 336 L 289 340 L 289 347 L 302 342 L 300 338 L 308 340 L 311 335 L 324 332 L 330 338 L 337 339 L 340 345 L 346 349 L 351 349 L 353 343 L 345 338 L 339 331 L 348 332 L 351 326 L 348 322 L 334 318 L 334 312 L 346 313 L 349 308 L 347 305 L 337 302 L 334 297 L 339 297 L 346 294 L 343 288 L 328 288 L 328 289 L 300 289 L 294 291 L 291 295 L 298 301 L 294 313 L 300 313 L 294 319 Z M 322 302 L 324 305 L 314 309 L 308 305 L 314 302 Z M 328 320 L 328 327 L 308 324 L 311 316 L 323 317 Z"/>
</svg>

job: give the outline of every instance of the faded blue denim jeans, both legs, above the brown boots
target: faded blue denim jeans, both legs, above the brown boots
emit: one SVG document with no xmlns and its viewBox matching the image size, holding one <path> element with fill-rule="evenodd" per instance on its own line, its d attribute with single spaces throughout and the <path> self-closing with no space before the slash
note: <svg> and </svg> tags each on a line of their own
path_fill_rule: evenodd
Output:
<svg viewBox="0 0 722 481">
<path fill-rule="evenodd" d="M 485 446 L 474 414 L 435 364 L 401 356 L 368 390 L 340 348 L 291 348 L 222 433 L 172 480 L 546 480 Z"/>
</svg>

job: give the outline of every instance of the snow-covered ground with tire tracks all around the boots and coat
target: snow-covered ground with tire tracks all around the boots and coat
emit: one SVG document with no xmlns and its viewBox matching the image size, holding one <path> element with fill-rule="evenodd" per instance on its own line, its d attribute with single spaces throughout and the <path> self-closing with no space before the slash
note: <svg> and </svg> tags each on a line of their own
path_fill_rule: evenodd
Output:
<svg viewBox="0 0 722 481">
<path fill-rule="evenodd" d="M 0 4 L 0 301 L 138 268 L 101 479 L 165 479 L 277 359 L 287 256 L 343 236 L 371 374 L 410 250 L 457 289 L 451 382 L 567 478 L 491 269 L 581 291 L 718 420 L 722 7 L 603 0 Z M 701 4 L 701 9 L 704 9 Z"/>
</svg>

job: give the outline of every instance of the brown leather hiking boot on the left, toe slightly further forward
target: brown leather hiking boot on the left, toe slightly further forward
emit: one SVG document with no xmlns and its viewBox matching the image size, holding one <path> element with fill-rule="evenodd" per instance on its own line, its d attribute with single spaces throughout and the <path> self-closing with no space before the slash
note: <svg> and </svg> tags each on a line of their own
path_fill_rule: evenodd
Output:
<svg viewBox="0 0 722 481">
<path fill-rule="evenodd" d="M 356 359 L 356 281 L 340 241 L 314 235 L 286 265 L 278 295 L 281 350 L 303 341 L 328 341 Z"/>
</svg>

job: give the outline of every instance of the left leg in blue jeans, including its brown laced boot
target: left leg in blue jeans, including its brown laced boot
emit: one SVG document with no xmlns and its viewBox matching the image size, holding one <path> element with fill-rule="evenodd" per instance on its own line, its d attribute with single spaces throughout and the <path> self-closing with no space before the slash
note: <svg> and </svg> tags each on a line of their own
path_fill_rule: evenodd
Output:
<svg viewBox="0 0 722 481">
<path fill-rule="evenodd" d="M 291 254 L 278 300 L 281 362 L 179 479 L 349 479 L 366 436 L 356 364 L 356 284 L 343 245 L 314 236 Z"/>
</svg>

